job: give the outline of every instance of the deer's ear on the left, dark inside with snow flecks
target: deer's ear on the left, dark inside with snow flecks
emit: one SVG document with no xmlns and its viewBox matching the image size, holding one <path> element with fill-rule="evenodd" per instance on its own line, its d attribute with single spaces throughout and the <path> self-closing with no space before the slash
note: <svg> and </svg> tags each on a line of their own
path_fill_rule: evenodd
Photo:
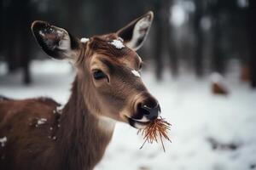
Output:
<svg viewBox="0 0 256 170">
<path fill-rule="evenodd" d="M 32 23 L 32 32 L 44 52 L 55 59 L 72 59 L 78 49 L 79 40 L 66 30 L 51 26 L 44 21 Z"/>
</svg>

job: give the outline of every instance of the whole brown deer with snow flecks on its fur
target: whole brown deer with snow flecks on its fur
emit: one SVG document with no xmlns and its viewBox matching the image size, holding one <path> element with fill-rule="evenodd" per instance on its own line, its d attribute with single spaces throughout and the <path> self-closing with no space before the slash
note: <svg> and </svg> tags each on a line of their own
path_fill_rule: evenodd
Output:
<svg viewBox="0 0 256 170">
<path fill-rule="evenodd" d="M 77 38 L 46 21 L 32 23 L 39 46 L 75 68 L 66 105 L 54 99 L 0 98 L 0 169 L 92 170 L 116 122 L 147 127 L 160 104 L 140 77 L 137 54 L 154 18 L 149 11 L 105 35 Z"/>
</svg>

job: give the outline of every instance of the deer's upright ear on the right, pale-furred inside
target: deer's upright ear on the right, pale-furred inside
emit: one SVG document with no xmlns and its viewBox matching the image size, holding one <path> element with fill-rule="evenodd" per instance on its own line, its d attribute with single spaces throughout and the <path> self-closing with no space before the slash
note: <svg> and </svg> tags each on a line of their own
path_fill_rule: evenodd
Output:
<svg viewBox="0 0 256 170">
<path fill-rule="evenodd" d="M 153 12 L 132 20 L 130 24 L 117 31 L 127 47 L 137 50 L 142 47 L 154 18 Z"/>
</svg>

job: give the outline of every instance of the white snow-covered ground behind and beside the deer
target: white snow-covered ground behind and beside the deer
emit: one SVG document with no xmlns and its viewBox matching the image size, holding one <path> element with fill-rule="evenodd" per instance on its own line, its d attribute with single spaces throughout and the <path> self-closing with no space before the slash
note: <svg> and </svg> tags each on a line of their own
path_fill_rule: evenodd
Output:
<svg viewBox="0 0 256 170">
<path fill-rule="evenodd" d="M 74 72 L 66 63 L 34 61 L 29 87 L 21 85 L 19 74 L 3 76 L 4 67 L 0 63 L 0 94 L 67 101 Z M 150 72 L 143 72 L 142 78 L 160 100 L 161 116 L 172 123 L 172 144 L 166 142 L 166 153 L 160 144 L 145 144 L 140 150 L 143 139 L 137 130 L 118 123 L 96 170 L 256 169 L 256 91 L 239 82 L 236 72 L 227 79 L 230 95 L 225 97 L 211 94 L 208 79 L 188 73 L 177 80 L 167 75 L 164 82 L 156 82 Z"/>
</svg>

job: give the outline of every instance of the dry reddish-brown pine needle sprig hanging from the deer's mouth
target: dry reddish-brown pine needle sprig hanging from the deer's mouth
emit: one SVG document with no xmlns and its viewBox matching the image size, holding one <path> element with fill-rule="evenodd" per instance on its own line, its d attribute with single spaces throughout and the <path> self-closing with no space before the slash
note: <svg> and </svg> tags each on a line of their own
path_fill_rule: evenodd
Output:
<svg viewBox="0 0 256 170">
<path fill-rule="evenodd" d="M 139 129 L 137 134 L 141 133 L 143 135 L 143 139 L 145 139 L 143 145 L 148 142 L 152 144 L 154 141 L 158 143 L 158 138 L 160 138 L 160 142 L 163 146 L 163 150 L 166 151 L 165 145 L 163 143 L 162 138 L 167 139 L 168 141 L 172 142 L 169 139 L 167 133 L 172 125 L 169 122 L 166 122 L 161 116 L 155 119 L 153 122 L 150 122 L 147 127 L 143 129 Z M 140 149 L 143 148 L 143 145 Z"/>
</svg>

